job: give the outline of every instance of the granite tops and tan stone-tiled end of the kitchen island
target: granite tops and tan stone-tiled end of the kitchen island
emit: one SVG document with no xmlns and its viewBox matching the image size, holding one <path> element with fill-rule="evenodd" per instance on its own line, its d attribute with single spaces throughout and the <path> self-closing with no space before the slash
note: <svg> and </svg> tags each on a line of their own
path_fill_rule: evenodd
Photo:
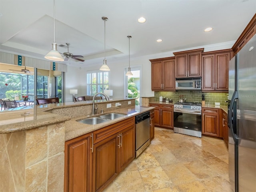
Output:
<svg viewBox="0 0 256 192">
<path fill-rule="evenodd" d="M 63 191 L 65 141 L 153 109 L 135 106 L 134 99 L 97 103 L 99 112 L 126 115 L 97 125 L 76 122 L 92 112 L 86 101 L 0 112 L 1 191 Z"/>
</svg>

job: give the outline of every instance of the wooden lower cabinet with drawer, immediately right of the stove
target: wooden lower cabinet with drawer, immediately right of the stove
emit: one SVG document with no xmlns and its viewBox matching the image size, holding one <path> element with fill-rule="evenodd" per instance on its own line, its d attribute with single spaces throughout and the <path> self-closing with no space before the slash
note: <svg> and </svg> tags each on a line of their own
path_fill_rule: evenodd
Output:
<svg viewBox="0 0 256 192">
<path fill-rule="evenodd" d="M 219 136 L 219 109 L 202 108 L 202 134 Z"/>
</svg>

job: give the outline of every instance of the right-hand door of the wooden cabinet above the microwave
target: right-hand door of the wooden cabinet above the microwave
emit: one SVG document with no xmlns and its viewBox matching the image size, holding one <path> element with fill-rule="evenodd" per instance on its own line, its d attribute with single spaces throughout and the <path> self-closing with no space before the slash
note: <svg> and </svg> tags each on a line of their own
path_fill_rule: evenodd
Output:
<svg viewBox="0 0 256 192">
<path fill-rule="evenodd" d="M 201 53 L 188 54 L 188 77 L 201 77 Z"/>
</svg>

